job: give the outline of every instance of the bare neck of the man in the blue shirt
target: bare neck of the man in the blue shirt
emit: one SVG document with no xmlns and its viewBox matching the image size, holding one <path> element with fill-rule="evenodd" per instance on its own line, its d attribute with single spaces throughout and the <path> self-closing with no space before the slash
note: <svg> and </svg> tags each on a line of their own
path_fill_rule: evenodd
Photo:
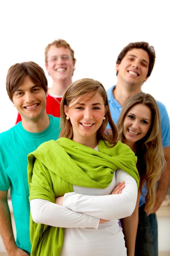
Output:
<svg viewBox="0 0 170 256">
<path fill-rule="evenodd" d="M 123 107 L 131 96 L 141 92 L 141 87 L 142 85 L 135 86 L 117 81 L 116 88 L 113 90 L 114 98 Z"/>
</svg>

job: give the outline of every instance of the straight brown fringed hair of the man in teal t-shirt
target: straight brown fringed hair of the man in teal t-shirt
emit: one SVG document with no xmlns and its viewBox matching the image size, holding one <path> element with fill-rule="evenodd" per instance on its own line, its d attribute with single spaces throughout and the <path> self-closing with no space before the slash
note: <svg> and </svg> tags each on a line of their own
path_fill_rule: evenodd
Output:
<svg viewBox="0 0 170 256">
<path fill-rule="evenodd" d="M 47 92 L 48 81 L 43 69 L 37 63 L 33 61 L 16 63 L 8 69 L 6 76 L 6 90 L 11 101 L 14 92 L 23 85 L 26 76 L 40 86 L 45 93 Z"/>
</svg>

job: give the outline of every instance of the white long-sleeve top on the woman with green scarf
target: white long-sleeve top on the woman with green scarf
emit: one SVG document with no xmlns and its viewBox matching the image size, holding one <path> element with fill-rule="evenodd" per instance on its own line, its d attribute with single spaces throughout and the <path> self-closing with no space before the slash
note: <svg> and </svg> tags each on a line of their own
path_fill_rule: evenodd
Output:
<svg viewBox="0 0 170 256">
<path fill-rule="evenodd" d="M 122 193 L 110 195 L 122 181 L 125 181 Z M 66 228 L 61 256 L 125 256 L 124 235 L 117 219 L 129 216 L 134 210 L 138 193 L 134 178 L 117 170 L 107 188 L 73 185 L 73 190 L 64 195 L 63 206 L 43 199 L 30 201 L 34 221 Z M 99 218 L 110 221 L 98 225 Z"/>
</svg>

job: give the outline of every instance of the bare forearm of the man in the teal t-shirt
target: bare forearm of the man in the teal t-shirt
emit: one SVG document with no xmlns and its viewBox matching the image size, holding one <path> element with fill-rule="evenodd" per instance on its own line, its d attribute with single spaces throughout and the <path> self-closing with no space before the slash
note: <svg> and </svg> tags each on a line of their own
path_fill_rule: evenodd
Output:
<svg viewBox="0 0 170 256">
<path fill-rule="evenodd" d="M 14 234 L 12 231 L 11 214 L 8 207 L 8 201 L 0 200 L 0 234 L 6 251 L 12 255 L 12 251 L 16 249 Z"/>
</svg>

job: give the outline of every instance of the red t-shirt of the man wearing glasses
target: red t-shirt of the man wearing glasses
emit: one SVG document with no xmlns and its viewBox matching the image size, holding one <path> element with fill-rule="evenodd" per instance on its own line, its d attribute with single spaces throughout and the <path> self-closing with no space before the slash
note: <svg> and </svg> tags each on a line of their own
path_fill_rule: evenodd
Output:
<svg viewBox="0 0 170 256">
<path fill-rule="evenodd" d="M 60 102 L 62 97 L 52 97 L 48 94 L 46 98 L 46 113 L 56 117 L 60 117 Z M 21 116 L 18 114 L 15 124 L 21 121 Z"/>
</svg>

